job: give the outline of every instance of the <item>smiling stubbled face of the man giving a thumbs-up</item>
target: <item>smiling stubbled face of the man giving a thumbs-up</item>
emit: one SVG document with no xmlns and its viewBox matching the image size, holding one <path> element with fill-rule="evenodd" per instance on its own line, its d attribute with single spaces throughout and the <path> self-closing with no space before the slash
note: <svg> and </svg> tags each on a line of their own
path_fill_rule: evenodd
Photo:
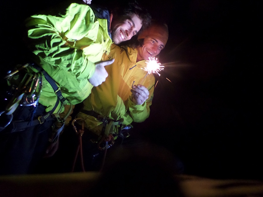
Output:
<svg viewBox="0 0 263 197">
<path fill-rule="evenodd" d="M 141 23 L 141 19 L 136 14 L 124 20 L 112 20 L 111 34 L 113 42 L 115 44 L 120 44 L 123 41 L 131 39 L 131 37 L 136 35 L 141 29 Z"/>
</svg>

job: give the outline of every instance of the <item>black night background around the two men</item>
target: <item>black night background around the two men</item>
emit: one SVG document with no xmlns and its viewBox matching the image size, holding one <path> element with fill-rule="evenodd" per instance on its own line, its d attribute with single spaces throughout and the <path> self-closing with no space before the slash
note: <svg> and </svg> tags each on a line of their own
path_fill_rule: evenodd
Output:
<svg viewBox="0 0 263 197">
<path fill-rule="evenodd" d="M 1 1 L 3 76 L 28 62 L 23 20 L 58 2 Z M 169 39 L 150 117 L 134 130 L 186 174 L 262 180 L 262 1 L 139 2 L 168 24 Z"/>
</svg>

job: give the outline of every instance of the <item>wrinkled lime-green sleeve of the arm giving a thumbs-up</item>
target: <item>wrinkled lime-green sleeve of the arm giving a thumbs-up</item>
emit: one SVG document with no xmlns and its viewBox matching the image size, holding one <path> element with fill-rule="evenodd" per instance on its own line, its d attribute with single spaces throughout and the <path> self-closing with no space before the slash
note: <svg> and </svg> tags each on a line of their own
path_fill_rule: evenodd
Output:
<svg viewBox="0 0 263 197">
<path fill-rule="evenodd" d="M 89 30 L 96 29 L 94 14 L 89 6 L 71 4 L 65 15 L 34 15 L 26 21 L 30 48 L 41 61 L 88 79 L 95 71 L 95 64 L 88 60 L 81 48 L 75 46 Z M 92 31 L 91 31 L 92 32 Z M 94 31 L 93 31 L 94 32 Z M 91 33 L 90 33 L 91 34 Z M 90 35 L 96 40 L 97 35 Z"/>
</svg>

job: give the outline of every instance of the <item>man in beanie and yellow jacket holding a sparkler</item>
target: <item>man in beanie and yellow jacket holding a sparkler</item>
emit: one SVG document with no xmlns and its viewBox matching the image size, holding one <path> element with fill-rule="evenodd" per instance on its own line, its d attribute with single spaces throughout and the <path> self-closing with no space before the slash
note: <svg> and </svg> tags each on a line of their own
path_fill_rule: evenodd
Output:
<svg viewBox="0 0 263 197">
<path fill-rule="evenodd" d="M 105 67 L 108 77 L 92 88 L 83 101 L 83 110 L 77 114 L 77 118 L 81 118 L 79 123 L 84 121 L 85 127 L 96 134 L 93 140 L 100 149 L 106 149 L 111 143 L 105 146 L 103 139 L 112 141 L 123 136 L 132 122 L 143 122 L 149 117 L 155 77 L 142 68 L 146 67 L 149 57 L 155 57 L 165 47 L 167 25 L 154 22 L 138 39 L 142 44 L 136 48 L 113 44 L 110 53 L 103 55 L 103 60 L 115 59 Z"/>
</svg>

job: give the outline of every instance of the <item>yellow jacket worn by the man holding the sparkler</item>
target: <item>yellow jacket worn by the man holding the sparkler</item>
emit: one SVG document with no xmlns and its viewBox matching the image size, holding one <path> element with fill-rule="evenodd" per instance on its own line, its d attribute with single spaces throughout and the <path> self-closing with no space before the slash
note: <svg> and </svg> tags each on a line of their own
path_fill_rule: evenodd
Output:
<svg viewBox="0 0 263 197">
<path fill-rule="evenodd" d="M 106 81 L 92 88 L 89 97 L 83 101 L 83 109 L 94 110 L 98 114 L 120 121 L 124 125 L 129 125 L 133 121 L 143 122 L 150 114 L 155 77 L 153 74 L 146 76 L 147 72 L 141 69 L 146 66 L 146 60 L 136 62 L 136 49 L 129 47 L 124 49 L 113 44 L 110 54 L 103 56 L 104 60 L 111 58 L 115 58 L 115 61 L 105 67 L 108 72 Z M 149 98 L 142 105 L 136 105 L 131 101 L 131 87 L 138 83 L 147 87 L 150 93 Z M 77 117 L 85 119 L 86 127 L 89 130 L 97 135 L 101 134 L 101 121 L 81 112 Z M 117 127 L 119 126 L 113 126 L 110 133 L 118 133 Z"/>
</svg>

